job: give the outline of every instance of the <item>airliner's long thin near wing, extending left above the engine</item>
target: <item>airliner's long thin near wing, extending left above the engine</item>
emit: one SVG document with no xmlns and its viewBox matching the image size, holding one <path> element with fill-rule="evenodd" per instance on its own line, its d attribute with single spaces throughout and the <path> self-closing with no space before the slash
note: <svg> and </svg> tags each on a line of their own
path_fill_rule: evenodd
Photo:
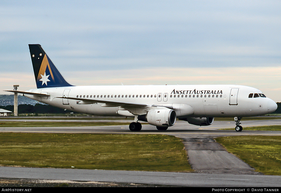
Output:
<svg viewBox="0 0 281 193">
<path fill-rule="evenodd" d="M 81 99 L 81 98 L 72 98 L 72 97 L 57 97 L 57 98 L 76 100 L 77 104 L 104 103 L 103 105 L 101 105 L 101 106 L 104 106 L 104 107 L 116 107 L 116 106 L 141 107 L 141 106 L 148 106 L 146 104 L 141 104 L 141 103 L 124 103 L 124 102 L 119 102 L 119 101 L 105 101 L 105 100 L 84 99 L 84 98 Z"/>
</svg>

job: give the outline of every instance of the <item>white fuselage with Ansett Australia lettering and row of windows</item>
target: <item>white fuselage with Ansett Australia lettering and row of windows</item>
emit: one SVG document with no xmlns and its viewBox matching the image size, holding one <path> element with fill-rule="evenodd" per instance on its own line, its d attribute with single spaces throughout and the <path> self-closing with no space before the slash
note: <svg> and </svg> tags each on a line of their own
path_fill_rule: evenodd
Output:
<svg viewBox="0 0 281 193">
<path fill-rule="evenodd" d="M 271 113 L 276 103 L 267 97 L 251 97 L 249 94 L 262 94 L 256 88 L 241 85 L 132 85 L 132 86 L 72 86 L 32 89 L 27 92 L 48 94 L 38 97 L 24 94 L 42 103 L 67 110 L 102 116 L 120 116 L 118 110 L 128 110 L 123 116 L 145 114 L 143 109 L 110 106 L 114 103 L 133 103 L 175 107 L 177 117 L 251 117 Z M 61 98 L 62 96 L 76 99 Z M 144 97 L 145 96 L 145 97 Z M 81 100 L 79 100 L 81 99 Z M 82 99 L 98 100 L 98 103 L 85 103 Z M 104 102 L 100 102 L 104 101 Z M 184 112 L 180 104 L 192 107 Z M 190 109 L 189 109 L 190 110 Z"/>
</svg>

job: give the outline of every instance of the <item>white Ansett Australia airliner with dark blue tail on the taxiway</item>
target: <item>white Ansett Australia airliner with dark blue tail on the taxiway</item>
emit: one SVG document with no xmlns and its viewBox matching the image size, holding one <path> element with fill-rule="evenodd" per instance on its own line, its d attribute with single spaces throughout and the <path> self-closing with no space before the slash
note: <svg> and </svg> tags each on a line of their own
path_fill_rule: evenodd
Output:
<svg viewBox="0 0 281 193">
<path fill-rule="evenodd" d="M 242 117 L 272 113 L 277 104 L 260 90 L 241 85 L 120 85 L 73 86 L 67 83 L 40 44 L 29 44 L 37 89 L 6 90 L 74 112 L 101 116 L 133 117 L 167 130 L 176 118 L 208 126 L 214 117 L 233 117 L 235 131 L 242 131 Z"/>
</svg>

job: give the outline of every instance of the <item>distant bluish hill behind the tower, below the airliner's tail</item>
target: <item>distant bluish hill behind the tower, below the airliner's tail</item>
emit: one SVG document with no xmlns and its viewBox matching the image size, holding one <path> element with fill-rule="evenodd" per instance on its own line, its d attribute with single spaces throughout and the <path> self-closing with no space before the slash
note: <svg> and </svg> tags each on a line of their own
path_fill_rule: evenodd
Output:
<svg viewBox="0 0 281 193">
<path fill-rule="evenodd" d="M 37 103 L 40 103 L 40 102 L 18 94 L 18 104 L 19 105 L 27 104 L 27 105 L 34 106 Z M 40 104 L 43 104 L 43 103 L 40 103 Z M 7 105 L 14 105 L 14 95 L 13 94 L 0 95 L 0 106 L 7 106 Z"/>
</svg>

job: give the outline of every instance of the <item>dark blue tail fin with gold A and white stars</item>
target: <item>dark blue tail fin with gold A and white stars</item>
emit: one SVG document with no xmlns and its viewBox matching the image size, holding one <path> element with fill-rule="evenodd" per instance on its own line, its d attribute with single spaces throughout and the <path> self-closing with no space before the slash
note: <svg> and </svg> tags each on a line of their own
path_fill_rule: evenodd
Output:
<svg viewBox="0 0 281 193">
<path fill-rule="evenodd" d="M 40 44 L 28 44 L 37 88 L 72 86 L 56 69 Z"/>
</svg>

